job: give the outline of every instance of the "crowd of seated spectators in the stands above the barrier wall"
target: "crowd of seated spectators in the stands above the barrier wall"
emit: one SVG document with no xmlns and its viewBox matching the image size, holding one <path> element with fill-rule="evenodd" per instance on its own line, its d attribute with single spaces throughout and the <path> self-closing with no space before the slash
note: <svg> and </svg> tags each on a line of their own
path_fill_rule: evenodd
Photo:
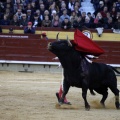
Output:
<svg viewBox="0 0 120 120">
<path fill-rule="evenodd" d="M 81 12 L 82 1 L 0 0 L 0 25 L 120 29 L 120 0 L 91 0 L 93 14 Z"/>
</svg>

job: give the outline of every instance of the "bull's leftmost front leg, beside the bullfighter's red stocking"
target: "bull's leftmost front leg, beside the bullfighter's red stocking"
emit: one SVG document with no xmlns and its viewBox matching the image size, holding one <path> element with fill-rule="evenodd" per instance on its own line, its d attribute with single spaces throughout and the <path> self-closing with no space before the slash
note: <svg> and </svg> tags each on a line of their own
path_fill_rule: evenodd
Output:
<svg viewBox="0 0 120 120">
<path fill-rule="evenodd" d="M 61 98 L 59 99 L 59 103 L 60 103 L 60 104 L 63 104 L 63 103 L 64 103 L 65 96 L 66 96 L 66 94 L 68 93 L 69 88 L 70 88 L 70 85 L 64 80 L 64 82 L 63 82 L 63 93 L 62 93 Z"/>
</svg>

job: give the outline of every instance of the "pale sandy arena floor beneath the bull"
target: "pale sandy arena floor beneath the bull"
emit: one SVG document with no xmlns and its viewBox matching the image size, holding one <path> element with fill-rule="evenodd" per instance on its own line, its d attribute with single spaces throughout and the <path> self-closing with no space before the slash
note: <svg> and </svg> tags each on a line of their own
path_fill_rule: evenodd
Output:
<svg viewBox="0 0 120 120">
<path fill-rule="evenodd" d="M 79 109 L 56 109 L 61 78 L 61 73 L 0 71 L 0 120 L 120 120 L 110 90 L 106 109 L 99 104 L 101 95 L 92 96 L 88 91 L 91 110 L 85 111 L 81 89 L 74 87 L 67 98 Z"/>
</svg>

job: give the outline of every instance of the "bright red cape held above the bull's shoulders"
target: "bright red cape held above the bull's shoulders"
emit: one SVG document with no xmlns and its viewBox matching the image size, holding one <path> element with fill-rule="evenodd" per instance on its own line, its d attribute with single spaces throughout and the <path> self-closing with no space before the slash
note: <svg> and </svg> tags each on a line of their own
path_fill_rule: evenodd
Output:
<svg viewBox="0 0 120 120">
<path fill-rule="evenodd" d="M 100 48 L 95 42 L 85 36 L 78 29 L 74 33 L 74 40 L 72 40 L 72 44 L 74 44 L 76 50 L 84 52 L 85 54 L 99 56 L 104 53 L 102 48 Z"/>
</svg>

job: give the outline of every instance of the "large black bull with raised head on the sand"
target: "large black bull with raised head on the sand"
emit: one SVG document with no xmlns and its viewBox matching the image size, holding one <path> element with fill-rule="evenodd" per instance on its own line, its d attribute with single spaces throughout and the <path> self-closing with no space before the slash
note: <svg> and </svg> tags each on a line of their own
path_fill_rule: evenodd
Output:
<svg viewBox="0 0 120 120">
<path fill-rule="evenodd" d="M 117 89 L 117 78 L 114 73 L 116 70 L 113 67 L 96 62 L 91 64 L 86 60 L 88 75 L 83 77 L 81 75 L 81 60 L 83 57 L 67 40 L 49 43 L 48 49 L 59 58 L 64 69 L 63 94 L 59 100 L 60 103 L 63 103 L 70 86 L 75 86 L 82 88 L 82 97 L 87 110 L 90 109 L 86 98 L 88 89 L 95 90 L 97 93 L 102 94 L 103 97 L 100 103 L 105 106 L 104 102 L 108 96 L 108 88 L 110 88 L 115 95 L 116 108 L 119 109 L 119 90 Z"/>
</svg>

